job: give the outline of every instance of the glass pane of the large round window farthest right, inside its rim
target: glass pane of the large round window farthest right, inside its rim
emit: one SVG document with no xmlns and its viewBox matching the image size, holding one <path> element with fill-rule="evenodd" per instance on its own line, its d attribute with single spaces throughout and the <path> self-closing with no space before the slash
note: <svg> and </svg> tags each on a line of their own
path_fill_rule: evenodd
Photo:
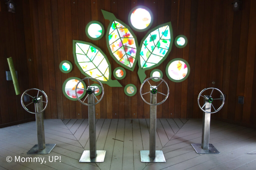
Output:
<svg viewBox="0 0 256 170">
<path fill-rule="evenodd" d="M 180 60 L 173 61 L 168 67 L 168 74 L 174 80 L 183 79 L 188 73 L 187 65 Z"/>
</svg>

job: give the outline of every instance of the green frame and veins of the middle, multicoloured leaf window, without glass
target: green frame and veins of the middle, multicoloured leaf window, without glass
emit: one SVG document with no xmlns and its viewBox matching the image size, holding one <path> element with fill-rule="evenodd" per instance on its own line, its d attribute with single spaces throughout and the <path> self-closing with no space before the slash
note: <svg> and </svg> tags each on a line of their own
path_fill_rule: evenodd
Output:
<svg viewBox="0 0 256 170">
<path fill-rule="evenodd" d="M 113 59 L 114 59 L 118 64 L 120 64 L 122 67 L 124 67 L 124 68 L 126 68 L 126 69 L 128 69 L 128 70 L 133 71 L 134 68 L 135 68 L 136 62 L 137 62 L 137 60 L 138 60 L 138 58 L 137 58 L 137 53 L 138 53 L 138 41 L 137 41 L 137 37 L 136 37 L 135 34 L 133 33 L 132 29 L 131 29 L 127 24 L 125 24 L 123 21 L 117 19 L 113 13 L 108 12 L 108 11 L 105 11 L 105 10 L 101 10 L 101 11 L 102 11 L 102 14 L 103 14 L 104 18 L 105 18 L 105 19 L 108 19 L 108 20 L 110 21 L 109 26 L 108 26 L 108 29 L 107 29 L 107 31 L 106 31 L 106 43 L 107 43 L 107 47 L 108 47 L 108 50 L 109 50 L 110 55 L 111 55 L 111 56 L 113 57 Z M 135 60 L 133 61 L 133 66 L 132 66 L 132 67 L 128 67 L 128 66 L 126 66 L 125 64 L 121 63 L 118 59 L 116 59 L 116 57 L 113 55 L 113 52 L 112 52 L 112 50 L 111 50 L 111 48 L 110 48 L 110 44 L 109 44 L 109 31 L 110 31 L 111 25 L 112 25 L 112 23 L 113 23 L 114 21 L 119 22 L 119 23 L 122 24 L 125 28 L 127 28 L 127 29 L 129 30 L 129 32 L 131 33 L 131 35 L 133 36 L 132 38 L 134 38 L 134 43 L 135 43 L 135 46 L 136 46 L 136 55 L 135 55 Z M 113 31 L 113 32 L 114 32 L 114 31 Z M 119 32 L 118 32 L 118 34 L 119 34 Z M 119 35 L 119 36 L 120 36 L 120 35 Z M 121 38 L 121 36 L 120 36 L 120 38 Z M 116 41 L 118 41 L 118 39 L 117 39 Z M 114 41 L 114 42 L 116 42 L 116 41 Z M 121 42 L 122 42 L 122 41 L 121 41 Z M 122 44 L 123 44 L 123 42 L 122 42 Z M 124 46 L 124 45 L 122 45 L 122 47 L 123 47 L 123 46 Z M 122 48 L 122 47 L 120 47 L 120 48 Z M 124 46 L 124 47 L 131 48 L 131 47 L 129 47 L 129 46 Z M 120 49 L 120 48 L 119 48 L 119 49 Z M 117 50 L 116 50 L 116 51 L 117 51 Z M 116 52 L 116 51 L 115 51 L 115 52 Z M 114 53 L 115 53 L 115 52 L 114 52 Z M 126 51 L 125 51 L 125 55 L 129 55 L 129 54 L 127 54 Z M 125 55 L 124 55 L 124 56 L 125 56 Z M 134 57 L 133 57 L 133 58 L 134 58 Z M 129 62 L 130 62 L 130 61 L 129 61 Z"/>
</svg>

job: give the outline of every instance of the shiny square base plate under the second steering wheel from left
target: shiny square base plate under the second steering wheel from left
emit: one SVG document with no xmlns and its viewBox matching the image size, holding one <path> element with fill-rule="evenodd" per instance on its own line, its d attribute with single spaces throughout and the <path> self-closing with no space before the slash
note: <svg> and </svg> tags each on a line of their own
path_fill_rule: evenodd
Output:
<svg viewBox="0 0 256 170">
<path fill-rule="evenodd" d="M 90 158 L 90 150 L 83 151 L 79 162 L 104 162 L 106 151 L 96 151 L 96 157 Z"/>
</svg>

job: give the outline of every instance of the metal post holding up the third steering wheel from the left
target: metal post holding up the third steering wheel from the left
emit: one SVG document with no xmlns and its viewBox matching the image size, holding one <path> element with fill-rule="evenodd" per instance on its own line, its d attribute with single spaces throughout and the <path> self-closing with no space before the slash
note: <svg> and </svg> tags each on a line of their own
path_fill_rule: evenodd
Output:
<svg viewBox="0 0 256 170">
<path fill-rule="evenodd" d="M 150 93 L 150 103 L 156 104 L 156 94 Z M 156 106 L 150 105 L 149 157 L 156 157 Z"/>
</svg>

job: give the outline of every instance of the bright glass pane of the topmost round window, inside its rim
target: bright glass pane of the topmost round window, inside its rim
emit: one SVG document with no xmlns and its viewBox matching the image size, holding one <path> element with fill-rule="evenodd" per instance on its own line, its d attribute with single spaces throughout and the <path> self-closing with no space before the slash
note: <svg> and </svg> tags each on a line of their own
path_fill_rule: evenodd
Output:
<svg viewBox="0 0 256 170">
<path fill-rule="evenodd" d="M 150 22 L 151 16 L 146 9 L 137 8 L 131 14 L 131 23 L 136 29 L 145 29 L 150 24 Z"/>
</svg>

